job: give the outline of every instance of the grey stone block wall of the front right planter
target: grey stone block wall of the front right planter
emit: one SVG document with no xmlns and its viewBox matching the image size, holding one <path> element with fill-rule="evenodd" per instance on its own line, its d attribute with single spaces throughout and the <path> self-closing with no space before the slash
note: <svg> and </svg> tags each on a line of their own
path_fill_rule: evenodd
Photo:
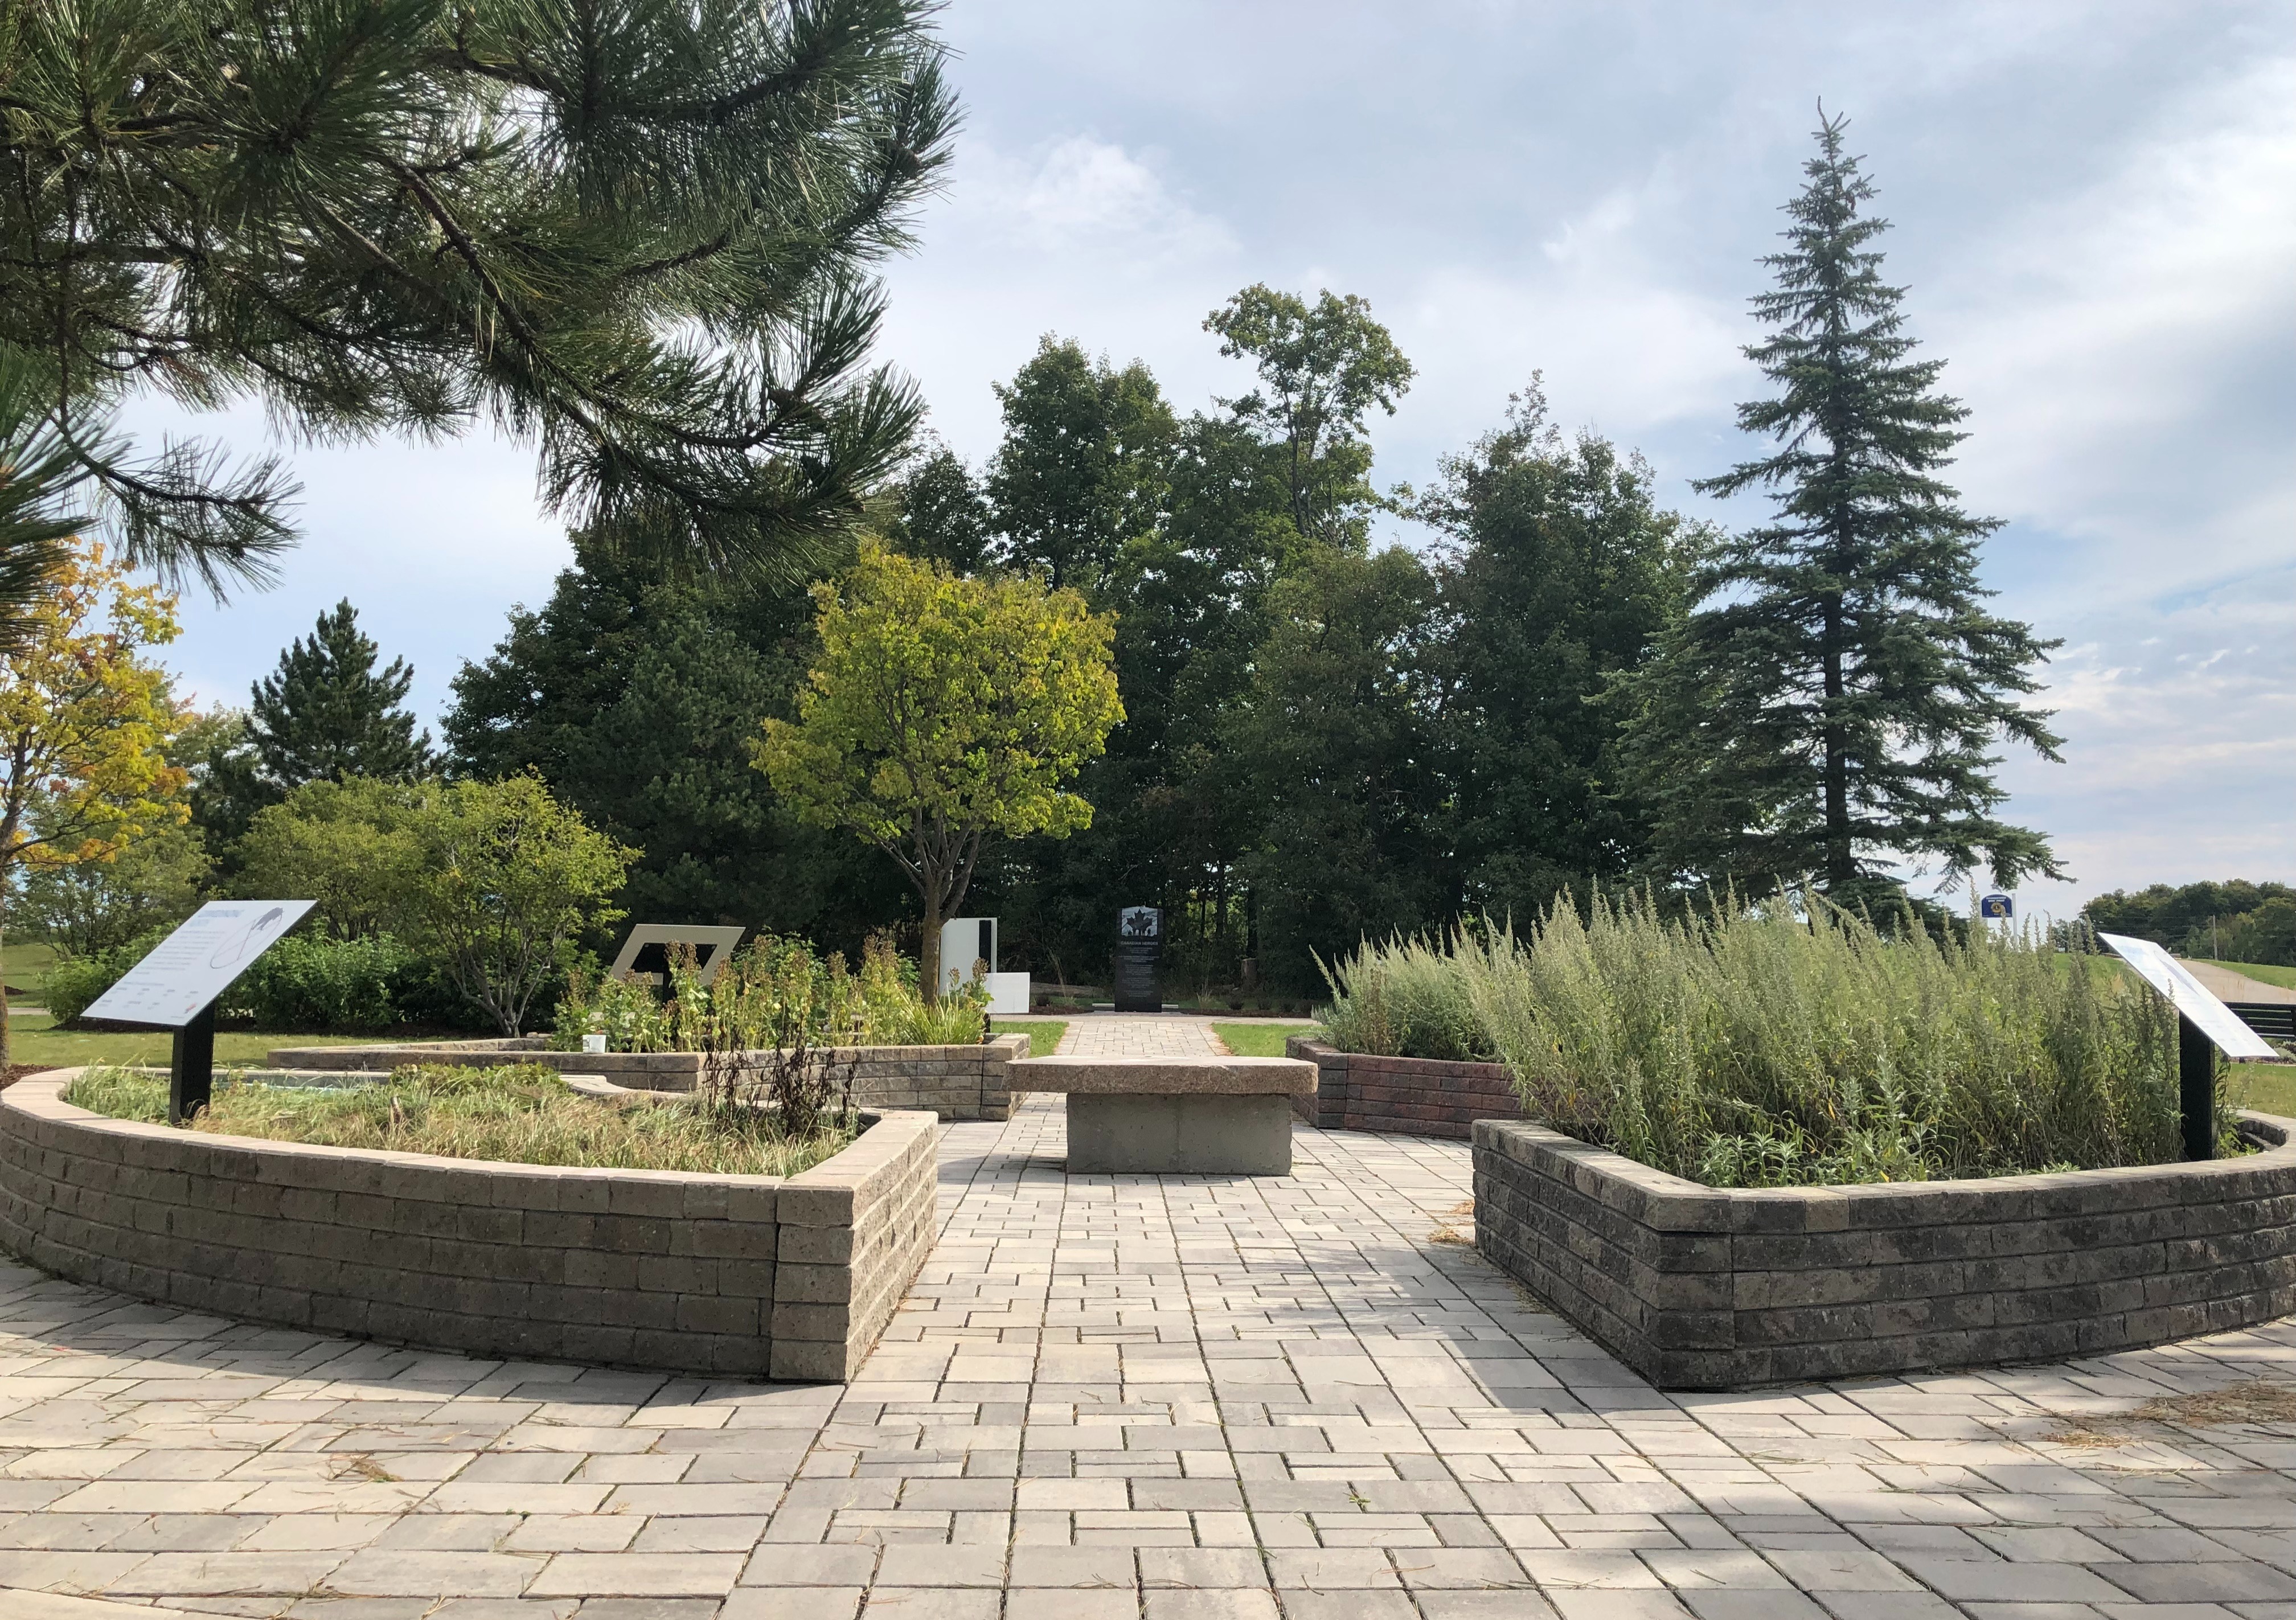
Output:
<svg viewBox="0 0 2296 1620">
<path fill-rule="evenodd" d="M 1474 1127 L 1476 1248 L 1660 1388 L 2082 1356 L 2296 1313 L 2296 1122 L 2209 1163 L 1715 1189 Z"/>
</svg>

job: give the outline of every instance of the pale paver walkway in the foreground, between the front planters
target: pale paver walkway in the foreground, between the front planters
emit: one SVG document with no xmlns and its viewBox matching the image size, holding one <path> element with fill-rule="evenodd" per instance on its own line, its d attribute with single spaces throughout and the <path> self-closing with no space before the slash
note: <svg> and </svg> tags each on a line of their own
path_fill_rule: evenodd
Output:
<svg viewBox="0 0 2296 1620">
<path fill-rule="evenodd" d="M 944 1241 L 843 1391 L 5 1269 L 0 1586 L 296 1620 L 2296 1620 L 2296 1322 L 1662 1395 L 1456 1241 L 1465 1182 L 1458 1143 L 1306 1129 L 1286 1179 L 1065 1177 L 1031 1099 L 948 1129 Z"/>
</svg>

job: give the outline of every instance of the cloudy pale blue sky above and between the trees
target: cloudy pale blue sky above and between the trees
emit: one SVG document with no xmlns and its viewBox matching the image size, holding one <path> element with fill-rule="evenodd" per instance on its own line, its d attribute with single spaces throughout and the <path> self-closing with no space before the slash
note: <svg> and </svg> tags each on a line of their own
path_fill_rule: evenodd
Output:
<svg viewBox="0 0 2296 1620">
<path fill-rule="evenodd" d="M 967 133 L 884 353 L 971 459 L 1042 333 L 1182 406 L 1240 392 L 1201 319 L 1265 280 L 1366 296 L 1417 363 L 1382 480 L 1428 480 L 1543 372 L 1561 422 L 1747 521 L 1688 480 L 1754 450 L 1754 259 L 1818 101 L 1848 112 L 1910 326 L 1972 408 L 1958 482 L 2007 521 L 1986 578 L 2064 640 L 2066 762 L 2002 771 L 2076 874 L 2027 913 L 2296 879 L 2296 0 L 951 0 L 944 25 Z M 349 594 L 429 714 L 565 562 L 519 445 L 296 466 L 285 583 L 191 603 L 202 700 Z"/>
</svg>

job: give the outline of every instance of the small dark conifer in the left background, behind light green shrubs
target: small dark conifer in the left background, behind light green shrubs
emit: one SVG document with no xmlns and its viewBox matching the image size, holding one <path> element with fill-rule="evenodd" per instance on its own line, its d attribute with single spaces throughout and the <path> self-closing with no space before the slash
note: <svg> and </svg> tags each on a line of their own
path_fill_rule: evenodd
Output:
<svg viewBox="0 0 2296 1620">
<path fill-rule="evenodd" d="M 402 782 L 429 769 L 429 732 L 416 737 L 416 716 L 400 707 L 416 672 L 404 659 L 377 670 L 377 654 L 358 610 L 338 601 L 280 654 L 278 672 L 255 684 L 248 741 L 273 792 L 319 778 Z"/>
</svg>

